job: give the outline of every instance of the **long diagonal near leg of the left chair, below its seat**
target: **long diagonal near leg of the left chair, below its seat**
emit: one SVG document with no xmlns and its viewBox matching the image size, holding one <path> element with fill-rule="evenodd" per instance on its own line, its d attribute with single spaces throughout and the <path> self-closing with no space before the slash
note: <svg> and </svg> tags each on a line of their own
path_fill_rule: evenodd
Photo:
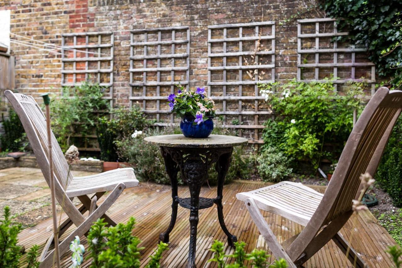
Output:
<svg viewBox="0 0 402 268">
<path fill-rule="evenodd" d="M 123 192 L 125 186 L 124 183 L 119 183 L 115 189 L 109 194 L 109 196 L 103 201 L 103 203 L 96 208 L 96 210 L 88 216 L 88 218 L 80 224 L 77 229 L 75 229 L 68 237 L 66 237 L 60 244 L 59 244 L 59 252 L 60 256 L 67 251 L 70 247 L 70 242 L 74 240 L 74 237 L 78 235 L 81 237 L 86 233 L 90 227 L 92 226 L 93 222 L 96 219 L 99 219 L 105 212 L 111 207 L 111 205 L 116 201 L 116 199 L 120 196 L 121 192 Z M 41 262 L 40 268 L 48 268 L 51 267 L 53 264 L 53 257 L 54 257 L 54 249 L 46 256 L 46 258 Z"/>
</svg>

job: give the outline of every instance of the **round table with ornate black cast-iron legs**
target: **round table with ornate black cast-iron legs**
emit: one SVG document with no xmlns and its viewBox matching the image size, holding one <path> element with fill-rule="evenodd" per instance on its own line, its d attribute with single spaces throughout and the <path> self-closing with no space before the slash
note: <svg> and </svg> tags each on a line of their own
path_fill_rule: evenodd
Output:
<svg viewBox="0 0 402 268">
<path fill-rule="evenodd" d="M 187 267 L 195 266 L 195 246 L 197 242 L 198 210 L 217 205 L 219 224 L 228 237 L 228 244 L 233 245 L 237 237 L 226 228 L 222 192 L 224 180 L 232 160 L 233 146 L 247 144 L 246 138 L 225 135 L 210 135 L 208 138 L 186 138 L 179 135 L 160 135 L 144 139 L 148 143 L 160 146 L 166 172 L 172 184 L 172 216 L 166 232 L 159 235 L 159 240 L 169 242 L 169 233 L 174 227 L 178 205 L 190 209 L 190 246 Z M 199 197 L 201 186 L 208 179 L 208 169 L 216 163 L 218 186 L 216 198 Z M 180 198 L 177 194 L 177 173 L 181 172 L 183 181 L 190 190 L 190 198 Z"/>
</svg>

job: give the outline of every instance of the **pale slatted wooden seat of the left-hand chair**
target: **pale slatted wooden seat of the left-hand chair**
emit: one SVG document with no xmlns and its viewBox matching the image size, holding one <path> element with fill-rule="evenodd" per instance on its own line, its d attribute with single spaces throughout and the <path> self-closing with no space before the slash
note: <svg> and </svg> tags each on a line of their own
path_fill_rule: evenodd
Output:
<svg viewBox="0 0 402 268">
<path fill-rule="evenodd" d="M 66 194 L 68 197 L 75 197 L 84 194 L 111 191 L 119 183 L 124 183 L 125 188 L 137 186 L 139 182 L 135 179 L 134 169 L 126 167 L 95 175 L 74 177 L 66 189 Z"/>
</svg>

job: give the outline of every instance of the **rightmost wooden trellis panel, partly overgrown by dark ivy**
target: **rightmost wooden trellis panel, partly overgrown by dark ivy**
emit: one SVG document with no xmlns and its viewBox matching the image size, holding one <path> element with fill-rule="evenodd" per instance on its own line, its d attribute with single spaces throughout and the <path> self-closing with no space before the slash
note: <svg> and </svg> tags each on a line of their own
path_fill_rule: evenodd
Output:
<svg viewBox="0 0 402 268">
<path fill-rule="evenodd" d="M 338 31 L 336 19 L 297 20 L 297 80 L 322 81 L 333 74 L 336 86 L 348 80 L 365 81 L 371 83 L 373 94 L 375 66 L 367 60 L 367 49 L 333 40 L 348 34 Z"/>
</svg>

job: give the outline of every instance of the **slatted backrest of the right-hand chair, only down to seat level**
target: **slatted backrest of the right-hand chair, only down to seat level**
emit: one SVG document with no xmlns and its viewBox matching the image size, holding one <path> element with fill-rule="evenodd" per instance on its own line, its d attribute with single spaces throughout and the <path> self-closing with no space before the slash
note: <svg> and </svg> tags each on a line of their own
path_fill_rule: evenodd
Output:
<svg viewBox="0 0 402 268">
<path fill-rule="evenodd" d="M 318 211 L 330 207 L 325 223 L 348 212 L 359 195 L 360 175 L 366 171 L 374 177 L 384 146 L 401 113 L 402 91 L 382 87 L 372 97 L 345 145 L 328 184 Z M 388 130 L 388 131 L 387 131 Z"/>
</svg>

